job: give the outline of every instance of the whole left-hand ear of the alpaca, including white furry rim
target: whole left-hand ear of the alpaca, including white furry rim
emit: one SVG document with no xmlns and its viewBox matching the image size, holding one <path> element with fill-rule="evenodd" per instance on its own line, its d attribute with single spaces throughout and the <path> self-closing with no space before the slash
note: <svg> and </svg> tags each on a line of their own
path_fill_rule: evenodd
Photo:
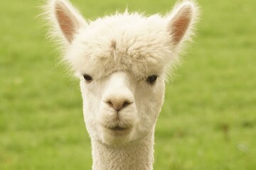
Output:
<svg viewBox="0 0 256 170">
<path fill-rule="evenodd" d="M 80 28 L 87 26 L 85 19 L 67 0 L 48 0 L 46 13 L 51 21 L 50 24 L 53 24 L 51 34 L 62 35 L 68 43 L 74 40 Z"/>
</svg>

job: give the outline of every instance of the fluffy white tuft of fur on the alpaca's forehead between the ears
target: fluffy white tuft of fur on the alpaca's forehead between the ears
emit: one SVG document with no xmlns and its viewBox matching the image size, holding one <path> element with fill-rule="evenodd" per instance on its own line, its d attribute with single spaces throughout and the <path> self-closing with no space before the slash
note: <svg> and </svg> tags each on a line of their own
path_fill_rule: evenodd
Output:
<svg viewBox="0 0 256 170">
<path fill-rule="evenodd" d="M 176 62 L 166 19 L 159 15 L 116 13 L 91 21 L 67 50 L 75 71 L 104 77 L 124 71 L 137 78 L 161 74 Z"/>
</svg>

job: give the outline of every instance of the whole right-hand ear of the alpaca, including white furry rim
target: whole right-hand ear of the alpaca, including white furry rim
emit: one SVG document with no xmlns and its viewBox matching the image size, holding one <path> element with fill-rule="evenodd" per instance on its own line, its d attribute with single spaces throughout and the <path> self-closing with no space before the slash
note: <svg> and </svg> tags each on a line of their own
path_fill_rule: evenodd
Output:
<svg viewBox="0 0 256 170">
<path fill-rule="evenodd" d="M 167 30 L 172 38 L 172 45 L 177 46 L 193 35 L 193 27 L 198 18 L 198 6 L 193 1 L 177 4 L 167 16 Z"/>
</svg>

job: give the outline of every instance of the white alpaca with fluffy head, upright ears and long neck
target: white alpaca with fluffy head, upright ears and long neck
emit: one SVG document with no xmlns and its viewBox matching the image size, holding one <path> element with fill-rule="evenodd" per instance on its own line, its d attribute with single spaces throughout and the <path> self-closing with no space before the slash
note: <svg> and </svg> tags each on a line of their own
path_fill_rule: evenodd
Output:
<svg viewBox="0 0 256 170">
<path fill-rule="evenodd" d="M 153 169 L 165 80 L 191 37 L 196 4 L 183 1 L 166 16 L 125 11 L 85 21 L 68 1 L 51 0 L 46 12 L 50 34 L 81 79 L 92 169 Z"/>
</svg>

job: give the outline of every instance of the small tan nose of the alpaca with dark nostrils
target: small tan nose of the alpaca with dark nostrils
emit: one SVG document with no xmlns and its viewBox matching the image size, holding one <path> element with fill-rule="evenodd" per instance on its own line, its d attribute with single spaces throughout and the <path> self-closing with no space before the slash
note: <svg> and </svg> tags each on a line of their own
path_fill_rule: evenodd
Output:
<svg viewBox="0 0 256 170">
<path fill-rule="evenodd" d="M 133 103 L 128 98 L 110 98 L 105 102 L 116 111 L 120 111 L 122 108 L 125 108 Z"/>
</svg>

